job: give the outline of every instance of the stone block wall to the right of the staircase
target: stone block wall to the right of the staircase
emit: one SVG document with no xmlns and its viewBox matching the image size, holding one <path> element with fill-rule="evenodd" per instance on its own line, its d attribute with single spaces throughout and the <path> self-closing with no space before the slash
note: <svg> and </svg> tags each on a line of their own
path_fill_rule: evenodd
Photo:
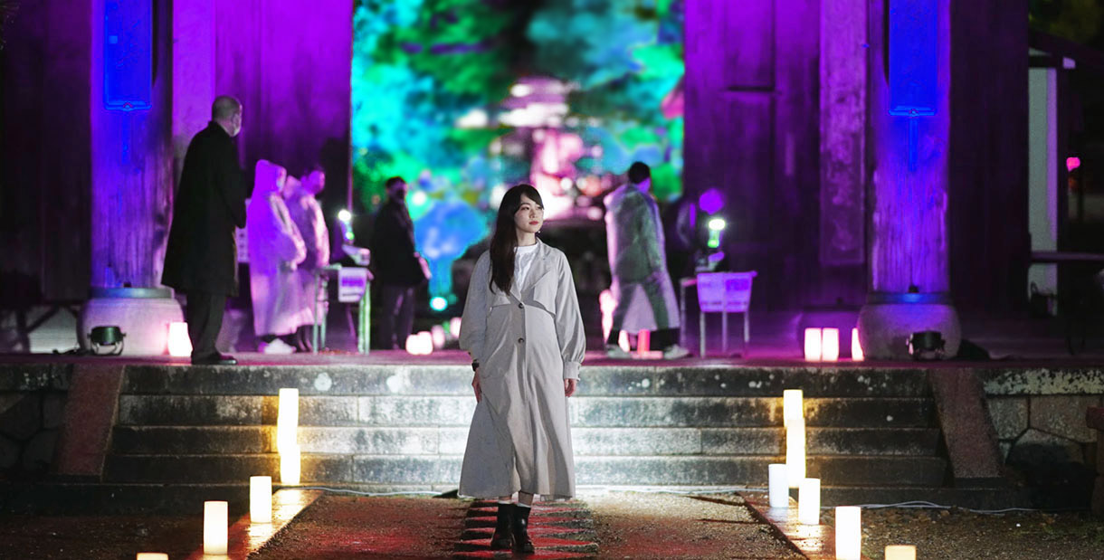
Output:
<svg viewBox="0 0 1104 560">
<path fill-rule="evenodd" d="M 1104 401 L 1104 370 L 1039 369 L 984 374 L 1005 465 L 1038 489 L 1044 505 L 1087 506 L 1096 464 L 1085 411 Z"/>
</svg>

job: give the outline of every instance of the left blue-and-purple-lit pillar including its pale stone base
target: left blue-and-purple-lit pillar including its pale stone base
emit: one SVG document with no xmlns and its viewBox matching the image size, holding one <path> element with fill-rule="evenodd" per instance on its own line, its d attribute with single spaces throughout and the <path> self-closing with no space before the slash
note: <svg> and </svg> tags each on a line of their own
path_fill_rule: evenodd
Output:
<svg viewBox="0 0 1104 560">
<path fill-rule="evenodd" d="M 77 335 L 116 325 L 126 353 L 166 351 L 182 320 L 160 288 L 172 196 L 169 0 L 92 0 L 92 299 Z M 147 87 L 148 85 L 148 87 Z"/>
</svg>

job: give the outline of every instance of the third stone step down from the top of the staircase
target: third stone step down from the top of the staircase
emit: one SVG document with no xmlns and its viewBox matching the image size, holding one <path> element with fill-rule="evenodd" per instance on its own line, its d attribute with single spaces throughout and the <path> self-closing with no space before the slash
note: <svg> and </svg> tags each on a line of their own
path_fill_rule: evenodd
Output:
<svg viewBox="0 0 1104 560">
<path fill-rule="evenodd" d="M 305 453 L 355 455 L 463 455 L 467 427 L 321 427 L 298 430 Z M 781 427 L 576 427 L 576 456 L 782 455 Z M 936 429 L 810 427 L 814 455 L 938 454 Z M 275 453 L 275 426 L 118 426 L 114 454 Z"/>
</svg>

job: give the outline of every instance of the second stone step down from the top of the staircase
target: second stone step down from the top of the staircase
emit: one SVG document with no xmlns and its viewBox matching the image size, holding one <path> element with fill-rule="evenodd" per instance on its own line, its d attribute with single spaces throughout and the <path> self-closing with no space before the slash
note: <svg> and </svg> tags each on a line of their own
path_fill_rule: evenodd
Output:
<svg viewBox="0 0 1104 560">
<path fill-rule="evenodd" d="M 467 426 L 470 397 L 301 397 L 305 426 Z M 119 397 L 121 425 L 275 424 L 275 397 Z M 577 397 L 572 425 L 580 427 L 767 427 L 782 425 L 782 399 L 752 397 Z M 934 427 L 930 399 L 806 399 L 809 426 Z"/>
</svg>

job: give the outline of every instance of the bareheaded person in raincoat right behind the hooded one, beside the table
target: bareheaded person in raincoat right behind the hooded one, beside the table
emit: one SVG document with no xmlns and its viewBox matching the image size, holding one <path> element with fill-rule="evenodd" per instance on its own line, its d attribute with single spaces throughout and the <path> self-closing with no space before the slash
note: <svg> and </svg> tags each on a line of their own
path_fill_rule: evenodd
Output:
<svg viewBox="0 0 1104 560">
<path fill-rule="evenodd" d="M 300 351 L 310 351 L 309 328 L 316 321 L 315 299 L 318 294 L 315 272 L 330 263 L 330 232 L 326 229 L 322 207 L 315 198 L 322 192 L 323 187 L 326 187 L 326 175 L 318 169 L 305 175 L 301 181 L 289 177 L 284 186 L 284 200 L 287 203 L 288 214 L 299 229 L 307 249 L 307 257 L 295 271 L 297 282 L 293 286 L 298 292 L 296 302 L 299 304 L 299 310 L 295 319 L 298 327 L 295 340 L 296 348 Z M 319 309 L 319 315 L 325 320 L 325 307 Z"/>
</svg>

